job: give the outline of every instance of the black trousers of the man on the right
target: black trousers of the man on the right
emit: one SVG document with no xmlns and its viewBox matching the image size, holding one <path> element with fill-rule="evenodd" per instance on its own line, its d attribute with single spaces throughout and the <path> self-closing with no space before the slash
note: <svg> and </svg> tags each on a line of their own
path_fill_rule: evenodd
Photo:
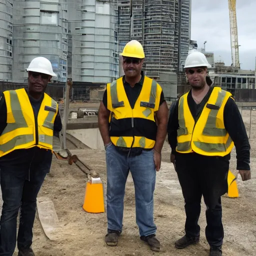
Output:
<svg viewBox="0 0 256 256">
<path fill-rule="evenodd" d="M 228 159 L 176 153 L 175 164 L 185 200 L 186 235 L 199 237 L 198 218 L 203 195 L 206 204 L 206 239 L 210 246 L 220 247 L 224 237 L 220 196 L 227 192 Z"/>
</svg>

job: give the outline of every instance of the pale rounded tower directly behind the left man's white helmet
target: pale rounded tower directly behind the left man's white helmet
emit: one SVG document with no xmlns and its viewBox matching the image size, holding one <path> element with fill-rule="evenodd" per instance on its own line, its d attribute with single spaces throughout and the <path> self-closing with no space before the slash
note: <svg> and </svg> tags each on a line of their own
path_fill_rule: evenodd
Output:
<svg viewBox="0 0 256 256">
<path fill-rule="evenodd" d="M 50 60 L 57 77 L 66 80 L 66 0 L 13 1 L 13 82 L 25 82 L 29 62 L 36 56 Z"/>
</svg>

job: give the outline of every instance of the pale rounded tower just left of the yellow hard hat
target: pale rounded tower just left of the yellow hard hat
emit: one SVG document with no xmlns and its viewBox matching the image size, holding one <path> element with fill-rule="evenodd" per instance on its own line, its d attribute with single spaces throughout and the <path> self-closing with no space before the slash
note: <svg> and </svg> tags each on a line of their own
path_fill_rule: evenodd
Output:
<svg viewBox="0 0 256 256">
<path fill-rule="evenodd" d="M 119 56 L 115 4 L 113 1 L 69 0 L 68 5 L 68 73 L 76 81 L 116 79 Z"/>
</svg>

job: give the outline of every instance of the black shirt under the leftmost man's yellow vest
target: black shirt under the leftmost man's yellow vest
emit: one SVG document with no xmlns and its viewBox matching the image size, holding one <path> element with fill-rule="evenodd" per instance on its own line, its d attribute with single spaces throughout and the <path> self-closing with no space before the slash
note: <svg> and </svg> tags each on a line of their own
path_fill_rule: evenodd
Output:
<svg viewBox="0 0 256 256">
<path fill-rule="evenodd" d="M 29 97 L 29 101 L 33 108 L 34 117 L 37 118 L 41 102 L 43 100 L 43 96 L 36 100 L 32 97 Z M 0 92 L 0 135 L 3 132 L 4 128 L 7 125 L 7 108 L 6 108 L 6 102 L 4 98 L 4 94 Z M 58 132 L 62 129 L 62 123 L 61 123 L 61 117 L 59 115 L 59 111 L 57 112 L 57 115 L 54 120 L 53 124 L 53 134 L 58 136 Z M 32 158 L 34 158 L 34 155 L 37 154 L 39 148 L 29 148 L 29 149 L 16 149 L 4 156 L 0 157 L 0 164 L 23 164 L 30 162 Z M 36 152 L 36 153 L 35 153 Z M 48 154 L 46 150 L 41 149 L 40 153 L 42 155 Z M 43 156 L 41 156 L 43 157 Z M 49 157 L 46 157 L 45 159 L 49 159 Z"/>
</svg>

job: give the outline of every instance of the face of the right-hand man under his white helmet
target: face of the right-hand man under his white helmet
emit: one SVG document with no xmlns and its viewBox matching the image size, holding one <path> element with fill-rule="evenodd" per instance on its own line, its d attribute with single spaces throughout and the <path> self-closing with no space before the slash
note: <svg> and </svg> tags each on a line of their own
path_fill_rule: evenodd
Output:
<svg viewBox="0 0 256 256">
<path fill-rule="evenodd" d="M 189 84 L 194 89 L 201 89 L 206 83 L 207 68 L 206 67 L 189 67 L 186 68 L 186 76 Z"/>
</svg>

